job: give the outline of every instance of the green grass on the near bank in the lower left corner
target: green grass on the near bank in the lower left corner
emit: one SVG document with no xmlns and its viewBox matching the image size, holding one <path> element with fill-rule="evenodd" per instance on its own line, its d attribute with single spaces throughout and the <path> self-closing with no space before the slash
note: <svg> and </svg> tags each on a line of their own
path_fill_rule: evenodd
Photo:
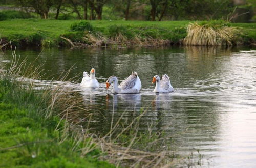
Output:
<svg viewBox="0 0 256 168">
<path fill-rule="evenodd" d="M 50 99 L 1 74 L 0 167 L 114 167 L 97 160 L 97 148 L 81 154 L 90 139 L 67 134 L 65 122 L 49 115 Z"/>
</svg>

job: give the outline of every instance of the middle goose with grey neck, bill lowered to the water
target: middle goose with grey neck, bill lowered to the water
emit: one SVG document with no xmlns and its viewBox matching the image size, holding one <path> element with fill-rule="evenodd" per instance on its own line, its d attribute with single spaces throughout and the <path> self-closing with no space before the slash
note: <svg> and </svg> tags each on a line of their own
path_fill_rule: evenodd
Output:
<svg viewBox="0 0 256 168">
<path fill-rule="evenodd" d="M 113 93 L 139 93 L 141 88 L 140 78 L 136 72 L 132 72 L 119 86 L 117 77 L 110 76 L 106 80 L 106 89 L 109 89 L 111 83 L 113 83 Z"/>
</svg>

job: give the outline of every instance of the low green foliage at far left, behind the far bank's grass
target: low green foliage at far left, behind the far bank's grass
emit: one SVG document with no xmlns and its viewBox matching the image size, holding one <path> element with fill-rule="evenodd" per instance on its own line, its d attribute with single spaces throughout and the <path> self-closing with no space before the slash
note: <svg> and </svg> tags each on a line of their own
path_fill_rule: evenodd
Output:
<svg viewBox="0 0 256 168">
<path fill-rule="evenodd" d="M 27 19 L 32 18 L 29 13 L 23 11 L 13 11 L 6 10 L 0 12 L 0 20 L 8 20 L 8 19 Z"/>
</svg>

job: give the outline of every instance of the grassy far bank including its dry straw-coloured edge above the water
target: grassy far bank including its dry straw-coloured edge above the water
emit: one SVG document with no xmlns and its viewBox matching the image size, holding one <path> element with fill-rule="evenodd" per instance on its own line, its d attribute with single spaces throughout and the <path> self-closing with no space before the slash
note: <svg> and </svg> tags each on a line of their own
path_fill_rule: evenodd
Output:
<svg viewBox="0 0 256 168">
<path fill-rule="evenodd" d="M 0 21 L 0 36 L 2 44 L 11 40 L 16 46 L 172 45 L 186 37 L 186 27 L 190 21 L 99 20 L 90 21 L 93 27 L 90 32 L 71 30 L 71 25 L 76 22 L 78 21 L 40 19 Z M 251 44 L 256 40 L 256 23 L 232 23 L 231 26 L 240 27 L 240 43 Z"/>
</svg>

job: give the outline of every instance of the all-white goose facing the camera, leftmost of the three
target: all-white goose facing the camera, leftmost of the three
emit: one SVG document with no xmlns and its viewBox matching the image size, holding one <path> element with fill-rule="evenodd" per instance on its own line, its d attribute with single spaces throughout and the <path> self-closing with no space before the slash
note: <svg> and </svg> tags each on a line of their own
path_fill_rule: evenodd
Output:
<svg viewBox="0 0 256 168">
<path fill-rule="evenodd" d="M 95 69 L 92 68 L 90 71 L 90 75 L 88 72 L 83 72 L 82 82 L 80 83 L 81 87 L 85 88 L 98 88 L 99 82 L 95 78 Z"/>
</svg>

